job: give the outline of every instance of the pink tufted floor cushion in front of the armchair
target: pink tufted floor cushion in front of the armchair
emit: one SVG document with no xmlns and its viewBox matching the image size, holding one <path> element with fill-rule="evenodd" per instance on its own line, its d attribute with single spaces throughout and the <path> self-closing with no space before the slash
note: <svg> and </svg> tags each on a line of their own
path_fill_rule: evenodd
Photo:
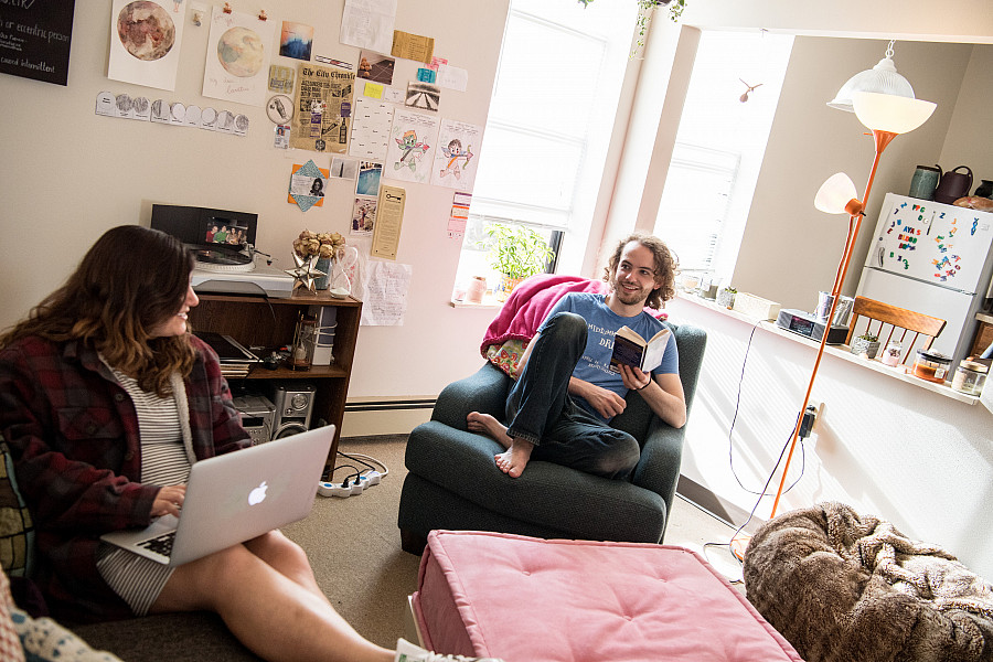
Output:
<svg viewBox="0 0 993 662">
<path fill-rule="evenodd" d="M 506 662 L 801 661 L 698 554 L 435 531 L 414 611 L 425 644 Z"/>
</svg>

